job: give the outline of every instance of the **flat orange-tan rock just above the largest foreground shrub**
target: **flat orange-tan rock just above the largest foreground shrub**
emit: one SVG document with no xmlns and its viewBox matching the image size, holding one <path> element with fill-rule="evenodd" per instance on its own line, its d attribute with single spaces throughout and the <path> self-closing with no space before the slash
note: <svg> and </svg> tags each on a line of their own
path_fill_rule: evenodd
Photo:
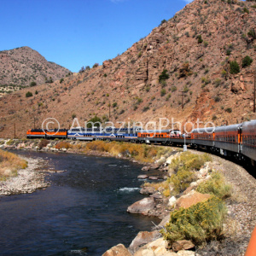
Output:
<svg viewBox="0 0 256 256">
<path fill-rule="evenodd" d="M 175 208 L 189 208 L 201 201 L 207 201 L 211 196 L 212 195 L 201 194 L 195 190 L 192 190 L 188 195 L 182 195 L 179 199 L 177 199 Z"/>
</svg>

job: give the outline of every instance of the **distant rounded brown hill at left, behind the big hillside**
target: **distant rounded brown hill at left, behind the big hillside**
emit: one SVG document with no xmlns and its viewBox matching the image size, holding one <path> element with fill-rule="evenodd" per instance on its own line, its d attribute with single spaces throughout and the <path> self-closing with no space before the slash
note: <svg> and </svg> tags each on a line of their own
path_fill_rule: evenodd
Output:
<svg viewBox="0 0 256 256">
<path fill-rule="evenodd" d="M 29 86 L 32 82 L 44 84 L 51 79 L 61 79 L 67 73 L 70 73 L 67 68 L 46 61 L 36 50 L 27 46 L 0 51 L 0 85 L 17 85 L 9 86 L 9 90 Z"/>
</svg>

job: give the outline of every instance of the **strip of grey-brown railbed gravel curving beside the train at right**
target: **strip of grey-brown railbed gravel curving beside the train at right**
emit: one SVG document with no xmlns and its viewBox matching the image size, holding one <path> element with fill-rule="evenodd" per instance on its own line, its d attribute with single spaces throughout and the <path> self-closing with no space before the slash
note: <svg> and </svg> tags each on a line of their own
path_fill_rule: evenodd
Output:
<svg viewBox="0 0 256 256">
<path fill-rule="evenodd" d="M 212 160 L 217 163 L 215 169 L 222 172 L 226 182 L 232 185 L 231 198 L 226 201 L 228 221 L 225 225 L 229 236 L 221 242 L 212 241 L 198 249 L 195 255 L 244 255 L 256 224 L 255 175 L 253 177 L 242 166 L 216 155 L 212 155 Z M 256 172 L 256 168 L 254 170 Z"/>
</svg>

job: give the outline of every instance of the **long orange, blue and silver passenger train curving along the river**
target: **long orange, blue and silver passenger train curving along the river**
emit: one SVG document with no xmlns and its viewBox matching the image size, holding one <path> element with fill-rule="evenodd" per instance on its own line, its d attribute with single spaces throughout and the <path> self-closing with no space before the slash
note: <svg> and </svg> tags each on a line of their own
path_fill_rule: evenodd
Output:
<svg viewBox="0 0 256 256">
<path fill-rule="evenodd" d="M 27 138 L 62 138 L 80 141 L 107 140 L 131 143 L 161 145 L 189 145 L 191 148 L 205 148 L 213 153 L 249 160 L 256 166 L 256 119 L 235 125 L 206 127 L 182 134 L 179 130 L 143 130 L 131 128 L 87 128 L 76 127 L 69 130 L 44 131 L 31 129 Z"/>
</svg>

